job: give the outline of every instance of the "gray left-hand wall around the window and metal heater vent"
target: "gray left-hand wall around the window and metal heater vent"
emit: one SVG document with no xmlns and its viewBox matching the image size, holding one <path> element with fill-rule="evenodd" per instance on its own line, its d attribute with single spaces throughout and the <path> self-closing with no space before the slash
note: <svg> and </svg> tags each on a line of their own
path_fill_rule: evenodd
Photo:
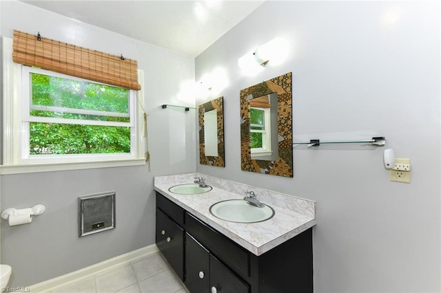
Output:
<svg viewBox="0 0 441 293">
<path fill-rule="evenodd" d="M 194 172 L 196 115 L 161 109 L 178 100 L 181 83 L 194 81 L 194 58 L 96 28 L 19 1 L 0 1 L 0 34 L 12 30 L 74 43 L 139 61 L 144 70 L 151 171 L 132 166 L 79 171 L 1 175 L 1 208 L 43 204 L 32 224 L 1 222 L 1 261 L 12 266 L 11 287 L 72 272 L 154 243 L 154 175 Z M 145 28 L 148 29 L 148 28 Z M 116 229 L 78 238 L 77 197 L 116 191 Z"/>
</svg>

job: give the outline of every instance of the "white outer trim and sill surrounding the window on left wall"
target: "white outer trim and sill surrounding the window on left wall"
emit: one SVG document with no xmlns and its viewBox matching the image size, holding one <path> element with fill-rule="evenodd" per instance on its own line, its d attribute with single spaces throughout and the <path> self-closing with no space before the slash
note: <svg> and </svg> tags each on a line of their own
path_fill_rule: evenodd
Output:
<svg viewBox="0 0 441 293">
<path fill-rule="evenodd" d="M 136 107 L 136 129 L 134 149 L 129 155 L 106 154 L 106 155 L 78 155 L 74 160 L 62 162 L 59 159 L 52 162 L 35 160 L 21 160 L 21 65 L 12 61 L 12 39 L 3 37 L 3 164 L 0 166 L 0 175 L 16 173 L 35 173 L 48 171 L 64 171 L 78 169 L 95 169 L 115 166 L 136 166 L 145 164 L 146 139 L 141 135 L 143 126 L 143 109 Z M 139 83 L 143 83 L 143 71 L 138 72 Z M 137 101 L 136 101 L 137 100 Z M 143 91 L 137 91 L 134 102 L 144 105 Z M 133 137 L 132 137 L 133 138 Z M 93 157 L 93 158 L 92 158 Z M 101 157 L 101 158 L 100 158 Z M 103 158 L 105 157 L 105 158 Z M 65 161 L 65 160 L 64 160 Z"/>
</svg>

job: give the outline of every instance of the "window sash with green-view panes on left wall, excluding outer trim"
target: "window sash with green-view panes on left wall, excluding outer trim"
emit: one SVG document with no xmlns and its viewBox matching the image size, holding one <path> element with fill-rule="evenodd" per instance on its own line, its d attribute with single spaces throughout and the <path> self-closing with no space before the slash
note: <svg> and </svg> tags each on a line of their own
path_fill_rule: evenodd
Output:
<svg viewBox="0 0 441 293">
<path fill-rule="evenodd" d="M 23 158 L 131 153 L 133 91 L 23 67 Z"/>
</svg>

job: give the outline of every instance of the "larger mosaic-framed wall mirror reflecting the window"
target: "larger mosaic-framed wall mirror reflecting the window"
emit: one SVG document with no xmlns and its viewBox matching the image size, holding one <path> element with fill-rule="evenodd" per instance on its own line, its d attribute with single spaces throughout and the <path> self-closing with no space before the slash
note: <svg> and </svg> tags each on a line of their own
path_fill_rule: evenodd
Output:
<svg viewBox="0 0 441 293">
<path fill-rule="evenodd" d="M 293 177 L 291 72 L 240 91 L 243 171 Z"/>
</svg>

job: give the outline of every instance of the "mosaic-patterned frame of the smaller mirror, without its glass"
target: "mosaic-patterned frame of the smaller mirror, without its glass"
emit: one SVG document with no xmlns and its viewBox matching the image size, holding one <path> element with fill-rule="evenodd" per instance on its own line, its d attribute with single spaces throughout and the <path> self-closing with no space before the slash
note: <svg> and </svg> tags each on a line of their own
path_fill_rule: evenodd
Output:
<svg viewBox="0 0 441 293">
<path fill-rule="evenodd" d="M 205 155 L 204 113 L 216 109 L 218 127 L 218 156 Z M 203 165 L 225 167 L 225 144 L 223 137 L 223 97 L 199 105 L 199 163 Z"/>
</svg>

